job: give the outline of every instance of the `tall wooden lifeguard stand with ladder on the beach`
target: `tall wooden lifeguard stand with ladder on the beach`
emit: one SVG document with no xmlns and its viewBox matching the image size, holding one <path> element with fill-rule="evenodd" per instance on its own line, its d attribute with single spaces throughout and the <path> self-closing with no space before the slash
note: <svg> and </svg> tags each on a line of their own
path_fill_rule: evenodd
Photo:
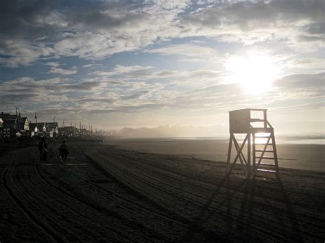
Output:
<svg viewBox="0 0 325 243">
<path fill-rule="evenodd" d="M 258 118 L 252 118 L 252 114 Z M 228 146 L 227 175 L 230 174 L 237 160 L 243 166 L 245 176 L 253 179 L 258 170 L 274 172 L 278 176 L 278 155 L 274 129 L 267 121 L 266 109 L 242 109 L 229 112 L 230 140 Z M 254 126 L 253 126 L 254 125 Z M 234 134 L 245 134 L 239 146 Z M 232 143 L 237 155 L 231 162 Z M 245 144 L 247 143 L 247 146 Z M 247 147 L 247 149 L 246 149 Z M 247 157 L 244 153 L 247 151 Z M 274 163 L 272 163 L 274 162 Z"/>
</svg>

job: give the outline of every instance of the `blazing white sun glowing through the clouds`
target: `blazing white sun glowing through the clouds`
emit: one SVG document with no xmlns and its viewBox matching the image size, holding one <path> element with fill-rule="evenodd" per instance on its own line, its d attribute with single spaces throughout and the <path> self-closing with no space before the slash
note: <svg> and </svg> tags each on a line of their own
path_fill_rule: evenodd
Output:
<svg viewBox="0 0 325 243">
<path fill-rule="evenodd" d="M 259 53 L 230 57 L 226 62 L 227 81 L 239 83 L 245 92 L 263 94 L 278 76 L 274 57 Z"/>
</svg>

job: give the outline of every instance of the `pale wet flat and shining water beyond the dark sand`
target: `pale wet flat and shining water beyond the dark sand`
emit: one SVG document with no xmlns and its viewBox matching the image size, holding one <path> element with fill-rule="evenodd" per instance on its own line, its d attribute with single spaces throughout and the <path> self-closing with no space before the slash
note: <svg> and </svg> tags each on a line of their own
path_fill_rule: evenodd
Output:
<svg viewBox="0 0 325 243">
<path fill-rule="evenodd" d="M 217 162 L 226 162 L 228 153 L 228 138 L 132 138 L 113 139 L 106 143 L 145 153 Z M 282 168 L 325 172 L 325 139 L 322 136 L 276 138 L 276 148 L 278 163 Z M 232 153 L 232 157 L 235 155 Z"/>
</svg>

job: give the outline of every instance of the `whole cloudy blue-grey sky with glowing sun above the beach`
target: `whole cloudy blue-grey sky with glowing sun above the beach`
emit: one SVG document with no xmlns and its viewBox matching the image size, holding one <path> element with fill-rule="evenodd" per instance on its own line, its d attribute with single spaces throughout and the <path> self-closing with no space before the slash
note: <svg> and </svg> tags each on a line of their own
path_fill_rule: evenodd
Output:
<svg viewBox="0 0 325 243">
<path fill-rule="evenodd" d="M 324 134 L 324 11 L 324 0 L 3 0 L 0 111 L 227 134 L 228 111 L 264 108 L 278 133 Z"/>
</svg>

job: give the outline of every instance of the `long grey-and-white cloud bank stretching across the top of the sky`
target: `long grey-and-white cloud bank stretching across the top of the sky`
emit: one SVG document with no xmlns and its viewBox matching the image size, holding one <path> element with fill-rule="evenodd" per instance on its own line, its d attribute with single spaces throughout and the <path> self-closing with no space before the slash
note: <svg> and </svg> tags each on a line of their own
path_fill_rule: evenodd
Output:
<svg viewBox="0 0 325 243">
<path fill-rule="evenodd" d="M 150 49 L 158 42 L 191 36 L 245 44 L 278 40 L 311 49 L 308 43 L 324 40 L 324 5 L 322 0 L 230 1 L 195 9 L 188 1 L 100 1 L 63 9 L 60 1 L 5 0 L 0 14 L 0 54 L 5 57 L 0 63 L 17 67 L 60 56 L 101 60 L 141 49 L 195 60 L 215 52 L 195 43 Z"/>
</svg>

